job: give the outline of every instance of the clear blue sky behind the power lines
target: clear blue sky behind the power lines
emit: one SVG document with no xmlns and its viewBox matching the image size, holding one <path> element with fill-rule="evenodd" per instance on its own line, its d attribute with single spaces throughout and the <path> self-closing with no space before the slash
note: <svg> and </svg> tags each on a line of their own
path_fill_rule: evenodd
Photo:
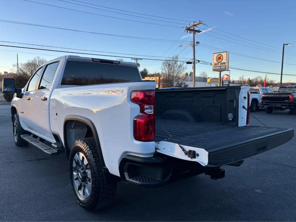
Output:
<svg viewBox="0 0 296 222">
<path fill-rule="evenodd" d="M 47 26 L 55 26 L 68 29 L 83 30 L 89 32 L 108 33 L 125 36 L 136 36 L 145 38 L 158 38 L 179 41 L 192 41 L 192 36 L 186 36 L 184 33 L 184 25 L 190 22 L 168 20 L 158 17 L 149 17 L 128 12 L 122 12 L 131 15 L 149 17 L 153 19 L 166 20 L 169 22 L 144 19 L 134 16 L 122 15 L 113 12 L 107 12 L 99 9 L 83 7 L 58 0 L 32 0 L 44 4 L 52 4 L 59 7 L 66 7 L 75 10 L 81 10 L 94 14 L 119 17 L 123 19 L 138 20 L 143 22 L 152 22 L 158 24 L 172 25 L 178 27 L 168 27 L 161 25 L 153 25 L 147 23 L 133 22 L 120 20 L 104 16 L 92 15 L 77 11 L 61 9 L 41 4 L 36 4 L 23 0 L 1 0 L 0 19 L 12 20 L 17 22 L 27 22 L 41 24 Z M 66 0 L 73 3 L 78 3 L 71 0 Z M 286 46 L 284 62 L 296 64 L 296 1 L 95 1 L 95 0 L 79 0 L 91 4 L 96 4 L 104 7 L 137 12 L 142 14 L 154 15 L 159 17 L 168 17 L 179 20 L 197 21 L 201 20 L 205 25 L 200 25 L 200 28 L 209 29 L 215 27 L 205 33 L 196 36 L 196 41 L 199 41 L 200 46 L 197 46 L 196 58 L 202 61 L 211 62 L 212 53 L 219 52 L 217 49 L 208 49 L 201 46 L 212 46 L 220 49 L 220 51 L 230 51 L 247 56 L 281 62 L 281 49 L 283 43 L 291 43 L 292 46 Z M 91 6 L 91 5 L 89 5 Z M 96 7 L 96 6 L 94 6 Z M 98 7 L 101 9 L 106 9 Z M 116 11 L 113 9 L 107 9 Z M 182 24 L 176 24 L 179 22 Z M 184 24 L 184 25 L 183 25 Z M 192 59 L 192 51 L 190 48 L 184 49 L 179 47 L 180 42 L 161 42 L 147 41 L 134 38 L 122 38 L 115 36 L 104 36 L 91 33 L 79 33 L 68 30 L 57 30 L 44 27 L 28 26 L 0 22 L 1 37 L 0 41 L 12 41 L 28 44 L 40 44 L 48 46 L 59 46 L 75 49 L 89 49 L 104 52 L 151 55 L 151 56 L 171 56 L 180 54 L 183 58 Z M 223 30 L 234 35 L 256 41 L 258 43 L 230 35 Z M 212 31 L 212 32 L 211 32 Z M 215 33 L 213 33 L 215 32 Z M 212 36 L 209 36 L 209 35 Z M 224 36 L 221 36 L 224 35 Z M 185 37 L 184 37 L 185 36 Z M 219 38 L 224 38 L 222 40 Z M 226 37 L 225 37 L 226 36 Z M 227 38 L 230 37 L 230 38 Z M 232 38 L 232 39 L 231 39 Z M 239 41 L 238 41 L 239 40 Z M 232 41 L 232 42 L 230 42 Z M 243 42 L 241 42 L 243 41 Z M 236 44 L 236 43 L 239 44 Z M 245 43 L 244 43 L 245 42 Z M 25 46 L 21 44 L 3 43 L 4 45 Z M 241 45 L 242 44 L 242 45 Z M 253 45 L 251 45 L 253 44 Z M 262 45 L 265 44 L 265 45 Z M 254 46 L 256 45 L 256 46 Z M 268 45 L 268 46 L 266 46 Z M 261 48 L 255 49 L 252 47 Z M 259 47 L 258 47 L 259 46 Z M 260 47 L 261 46 L 261 47 Z M 276 48 L 273 48 L 273 47 Z M 30 46 L 29 46 L 30 47 Z M 46 48 L 36 46 L 36 48 Z M 262 48 L 265 47 L 265 48 Z M 52 48 L 47 48 L 52 49 Z M 55 57 L 70 54 L 62 52 L 45 52 L 32 49 L 17 49 L 0 46 L 0 50 L 18 51 L 8 52 L 0 51 L 0 72 L 10 71 L 9 67 L 16 62 L 16 54 L 19 55 L 19 62 L 26 62 L 39 55 L 47 60 Z M 57 49 L 59 50 L 59 49 Z M 268 50 L 268 51 L 265 51 Z M 278 52 L 274 52 L 274 50 Z M 70 50 L 73 51 L 73 50 Z M 270 52 L 271 51 L 271 52 Z M 26 52 L 26 53 L 25 53 Z M 165 53 L 166 52 L 166 53 Z M 29 54 L 36 53 L 36 54 Z M 107 53 L 98 53 L 107 54 Z M 111 54 L 109 54 L 111 55 Z M 114 55 L 114 54 L 113 54 Z M 86 56 L 81 54 L 81 56 Z M 103 57 L 89 56 L 108 59 L 117 59 L 118 57 Z M 130 56 L 128 56 L 130 57 Z M 135 56 L 142 57 L 142 56 Z M 132 61 L 131 59 L 124 59 Z M 181 59 L 186 60 L 186 59 Z M 232 67 L 244 69 L 266 71 L 272 73 L 280 73 L 281 63 L 268 62 L 248 57 L 231 54 L 229 63 Z M 160 71 L 161 61 L 142 60 L 141 67 L 147 68 L 150 72 Z M 188 72 L 192 70 L 192 66 L 188 65 Z M 284 64 L 284 74 L 294 74 L 295 76 L 283 76 L 283 82 L 296 82 L 296 65 Z M 213 72 L 211 66 L 197 64 L 196 74 L 207 72 L 208 76 L 216 77 L 218 72 Z M 252 73 L 248 71 L 231 70 L 231 79 L 238 79 L 244 74 L 244 78 L 254 78 L 260 75 L 264 78 L 263 73 Z M 280 75 L 268 74 L 268 78 L 279 81 Z"/>
</svg>

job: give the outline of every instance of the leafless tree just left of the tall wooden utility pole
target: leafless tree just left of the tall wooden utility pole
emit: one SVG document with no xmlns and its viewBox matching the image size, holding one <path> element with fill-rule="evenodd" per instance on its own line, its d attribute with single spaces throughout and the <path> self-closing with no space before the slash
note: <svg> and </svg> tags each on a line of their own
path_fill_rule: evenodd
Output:
<svg viewBox="0 0 296 222">
<path fill-rule="evenodd" d="M 169 57 L 161 65 L 162 83 L 167 87 L 183 85 L 186 78 L 185 71 L 186 65 L 178 62 L 178 55 Z"/>
</svg>

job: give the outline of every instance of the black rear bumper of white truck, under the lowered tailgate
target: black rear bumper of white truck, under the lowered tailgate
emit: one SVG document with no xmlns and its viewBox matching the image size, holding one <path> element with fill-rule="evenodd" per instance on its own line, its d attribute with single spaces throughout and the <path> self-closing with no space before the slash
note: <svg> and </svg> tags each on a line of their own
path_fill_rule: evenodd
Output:
<svg viewBox="0 0 296 222">
<path fill-rule="evenodd" d="M 161 186 L 213 169 L 197 162 L 155 153 L 153 157 L 126 155 L 120 162 L 122 181 L 141 186 Z"/>
</svg>

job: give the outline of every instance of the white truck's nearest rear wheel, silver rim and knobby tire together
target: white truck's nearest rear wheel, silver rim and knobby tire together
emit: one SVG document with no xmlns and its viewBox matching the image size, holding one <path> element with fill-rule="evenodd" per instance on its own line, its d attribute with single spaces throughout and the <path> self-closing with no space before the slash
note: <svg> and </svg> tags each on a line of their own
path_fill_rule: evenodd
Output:
<svg viewBox="0 0 296 222">
<path fill-rule="evenodd" d="M 76 140 L 73 144 L 69 174 L 75 198 L 85 210 L 102 208 L 112 202 L 117 184 L 104 180 L 93 137 Z"/>
</svg>

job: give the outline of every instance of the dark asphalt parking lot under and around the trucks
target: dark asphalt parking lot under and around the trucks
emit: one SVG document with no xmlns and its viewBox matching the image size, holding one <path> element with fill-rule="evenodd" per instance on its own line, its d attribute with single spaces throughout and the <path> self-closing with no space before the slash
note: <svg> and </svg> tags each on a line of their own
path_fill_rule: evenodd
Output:
<svg viewBox="0 0 296 222">
<path fill-rule="evenodd" d="M 252 114 L 296 130 L 289 111 Z M 260 123 L 251 117 L 250 125 Z M 296 221 L 296 137 L 223 167 L 220 180 L 200 175 L 155 189 L 119 182 L 112 205 L 94 212 L 76 202 L 64 153 L 14 144 L 9 105 L 0 105 L 0 141 L 0 221 Z"/>
</svg>

